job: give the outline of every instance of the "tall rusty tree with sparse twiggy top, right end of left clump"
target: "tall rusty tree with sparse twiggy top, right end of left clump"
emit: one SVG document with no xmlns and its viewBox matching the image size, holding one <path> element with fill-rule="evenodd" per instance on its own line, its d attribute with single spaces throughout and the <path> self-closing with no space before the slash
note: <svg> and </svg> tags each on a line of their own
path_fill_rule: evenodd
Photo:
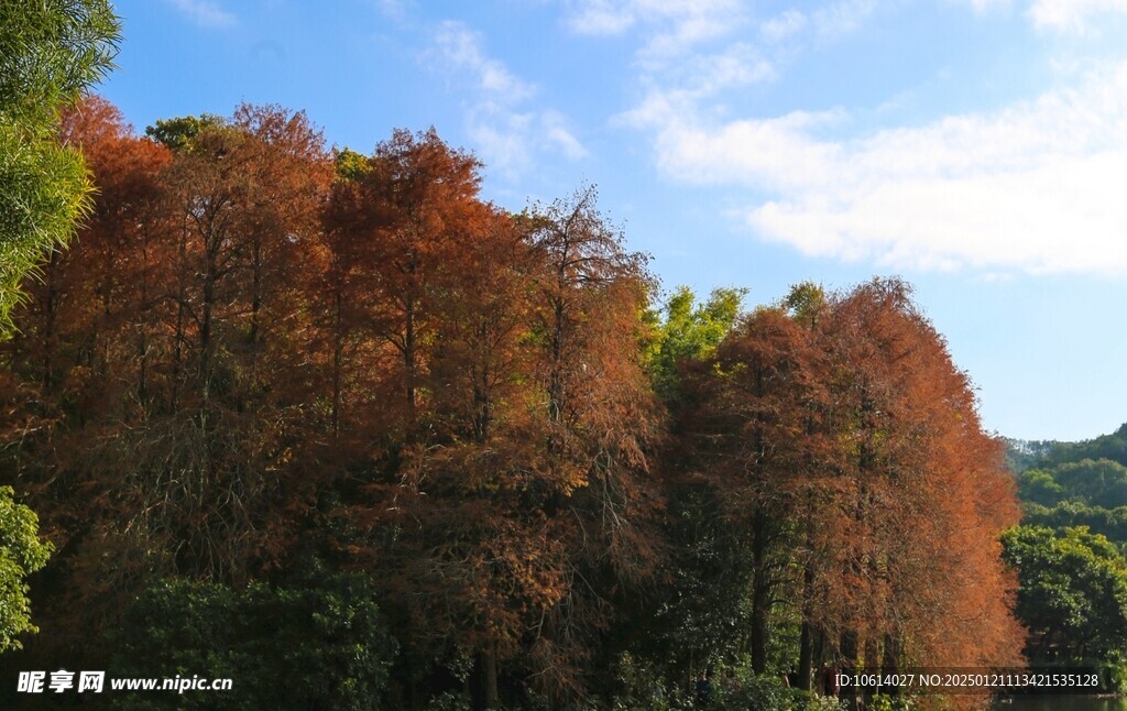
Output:
<svg viewBox="0 0 1127 711">
<path fill-rule="evenodd" d="M 653 293 L 648 257 L 627 251 L 598 211 L 593 186 L 522 215 L 533 250 L 532 375 L 540 389 L 545 513 L 568 526 L 565 596 L 549 615 L 539 652 L 575 683 L 600 646 L 612 598 L 657 570 L 659 508 L 649 453 L 663 417 L 642 367 L 651 338 L 642 317 Z M 550 679 L 549 679 L 550 681 Z"/>
</svg>

